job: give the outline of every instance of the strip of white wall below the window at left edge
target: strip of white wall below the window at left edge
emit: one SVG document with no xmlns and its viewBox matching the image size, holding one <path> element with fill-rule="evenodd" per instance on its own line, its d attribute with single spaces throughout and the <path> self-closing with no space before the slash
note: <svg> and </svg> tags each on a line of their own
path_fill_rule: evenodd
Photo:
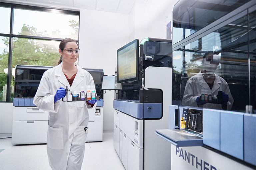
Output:
<svg viewBox="0 0 256 170">
<path fill-rule="evenodd" d="M 0 103 L 0 137 L 10 137 L 12 133 L 13 103 Z"/>
</svg>

